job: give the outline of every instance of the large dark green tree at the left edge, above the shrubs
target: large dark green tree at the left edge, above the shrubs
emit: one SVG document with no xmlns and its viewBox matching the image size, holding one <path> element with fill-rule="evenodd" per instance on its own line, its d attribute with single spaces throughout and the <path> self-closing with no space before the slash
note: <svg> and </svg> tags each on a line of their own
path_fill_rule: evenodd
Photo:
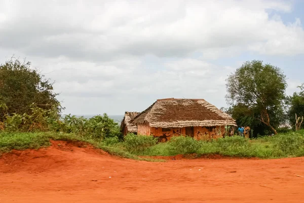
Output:
<svg viewBox="0 0 304 203">
<path fill-rule="evenodd" d="M 6 112 L 0 111 L 0 121 L 5 114 L 30 115 L 31 105 L 50 110 L 56 108 L 58 113 L 63 109 L 56 99 L 53 83 L 30 67 L 30 62 L 21 62 L 11 58 L 0 65 L 0 105 Z M 3 108 L 4 109 L 4 108 Z"/>
</svg>

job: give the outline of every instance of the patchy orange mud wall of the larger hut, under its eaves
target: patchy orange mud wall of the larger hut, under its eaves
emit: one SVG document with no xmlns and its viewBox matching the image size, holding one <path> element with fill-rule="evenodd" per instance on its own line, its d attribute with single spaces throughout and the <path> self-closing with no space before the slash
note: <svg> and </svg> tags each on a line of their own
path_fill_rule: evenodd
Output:
<svg viewBox="0 0 304 203">
<path fill-rule="evenodd" d="M 143 132 L 143 131 L 142 131 Z M 145 129 L 147 133 L 147 130 Z M 160 142 L 166 142 L 170 140 L 174 136 L 185 135 L 186 128 L 170 128 L 170 131 L 163 131 L 161 127 L 151 127 L 150 135 L 154 137 L 158 137 Z M 216 127 L 194 127 L 194 139 L 196 140 L 210 140 L 222 138 L 225 133 L 224 126 L 216 126 Z M 138 128 L 138 134 L 139 128 Z M 147 134 L 146 134 L 147 135 Z"/>
</svg>

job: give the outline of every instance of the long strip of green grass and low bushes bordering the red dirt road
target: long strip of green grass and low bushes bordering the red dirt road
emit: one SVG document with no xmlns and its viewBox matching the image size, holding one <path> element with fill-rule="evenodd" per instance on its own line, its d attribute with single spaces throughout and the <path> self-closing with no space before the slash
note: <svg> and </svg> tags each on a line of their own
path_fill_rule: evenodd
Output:
<svg viewBox="0 0 304 203">
<path fill-rule="evenodd" d="M 273 137 L 245 139 L 227 137 L 213 141 L 196 141 L 192 138 L 175 137 L 167 143 L 157 144 L 147 136 L 128 135 L 122 142 L 118 138 L 94 140 L 74 133 L 0 133 L 0 152 L 12 149 L 37 149 L 50 146 L 50 139 L 87 142 L 96 148 L 120 157 L 142 159 L 138 156 L 173 156 L 196 153 L 220 154 L 233 157 L 283 158 L 304 156 L 304 130 L 278 134 Z"/>
</svg>

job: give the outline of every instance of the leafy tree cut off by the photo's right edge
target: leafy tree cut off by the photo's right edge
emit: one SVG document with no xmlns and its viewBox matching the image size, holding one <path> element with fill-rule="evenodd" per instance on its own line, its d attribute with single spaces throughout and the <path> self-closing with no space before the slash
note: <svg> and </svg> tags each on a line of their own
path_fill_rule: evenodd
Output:
<svg viewBox="0 0 304 203">
<path fill-rule="evenodd" d="M 289 121 L 293 126 L 295 125 L 295 114 L 297 116 L 304 116 L 304 84 L 298 86 L 300 88 L 299 92 L 294 92 L 292 96 L 288 98 L 289 104 Z"/>
</svg>

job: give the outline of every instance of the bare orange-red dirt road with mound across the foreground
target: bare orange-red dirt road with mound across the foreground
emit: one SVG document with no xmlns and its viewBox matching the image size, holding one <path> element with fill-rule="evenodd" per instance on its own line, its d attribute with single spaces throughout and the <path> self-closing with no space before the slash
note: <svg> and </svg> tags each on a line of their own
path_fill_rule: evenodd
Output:
<svg viewBox="0 0 304 203">
<path fill-rule="evenodd" d="M 0 202 L 304 202 L 304 157 L 145 162 L 52 143 L 0 157 Z"/>
</svg>

